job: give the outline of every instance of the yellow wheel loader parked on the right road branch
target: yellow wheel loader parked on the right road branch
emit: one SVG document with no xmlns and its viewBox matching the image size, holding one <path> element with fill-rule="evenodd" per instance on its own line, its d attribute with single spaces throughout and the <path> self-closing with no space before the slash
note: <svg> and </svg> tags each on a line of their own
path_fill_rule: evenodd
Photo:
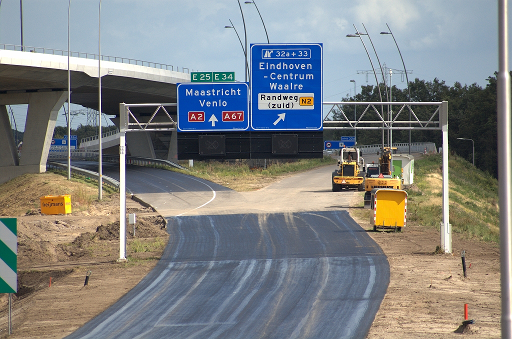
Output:
<svg viewBox="0 0 512 339">
<path fill-rule="evenodd" d="M 339 192 L 343 188 L 357 188 L 365 190 L 365 160 L 361 158 L 361 151 L 356 148 L 344 148 L 338 158 L 338 169 L 332 173 L 332 192 Z"/>
</svg>

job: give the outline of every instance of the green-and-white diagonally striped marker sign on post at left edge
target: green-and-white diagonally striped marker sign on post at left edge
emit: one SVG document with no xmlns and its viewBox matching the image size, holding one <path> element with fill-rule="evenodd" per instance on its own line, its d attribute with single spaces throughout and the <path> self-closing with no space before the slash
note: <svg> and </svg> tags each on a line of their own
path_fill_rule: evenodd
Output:
<svg viewBox="0 0 512 339">
<path fill-rule="evenodd" d="M 0 293 L 9 293 L 9 334 L 12 334 L 11 293 L 18 291 L 16 221 L 16 218 L 0 218 Z"/>
</svg>

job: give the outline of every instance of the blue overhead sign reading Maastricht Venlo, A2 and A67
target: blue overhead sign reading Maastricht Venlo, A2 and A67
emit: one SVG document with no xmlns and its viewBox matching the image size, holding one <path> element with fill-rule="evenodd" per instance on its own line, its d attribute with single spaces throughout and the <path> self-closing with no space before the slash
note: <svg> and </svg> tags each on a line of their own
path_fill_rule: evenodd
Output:
<svg viewBox="0 0 512 339">
<path fill-rule="evenodd" d="M 245 82 L 179 83 L 178 132 L 246 131 L 249 86 Z"/>
</svg>

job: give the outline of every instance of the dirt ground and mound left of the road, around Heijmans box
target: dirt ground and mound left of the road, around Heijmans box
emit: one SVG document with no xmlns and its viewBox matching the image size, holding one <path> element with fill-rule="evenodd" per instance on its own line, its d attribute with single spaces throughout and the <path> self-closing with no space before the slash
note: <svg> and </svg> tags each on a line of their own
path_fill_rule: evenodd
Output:
<svg viewBox="0 0 512 339">
<path fill-rule="evenodd" d="M 18 292 L 13 294 L 9 337 L 64 337 L 114 304 L 156 265 L 168 240 L 165 221 L 151 207 L 127 199 L 127 212 L 137 215 L 136 238 L 127 225 L 129 261 L 116 263 L 118 194 L 104 194 L 99 203 L 91 198 L 97 195 L 96 187 L 56 174 L 17 179 L 0 186 L 0 198 L 11 207 L 6 203 L 0 212 L 18 218 Z M 72 214 L 39 213 L 34 196 L 64 193 L 72 195 L 72 202 L 77 200 Z M 7 294 L 0 294 L 0 338 L 8 337 L 7 303 Z"/>
</svg>

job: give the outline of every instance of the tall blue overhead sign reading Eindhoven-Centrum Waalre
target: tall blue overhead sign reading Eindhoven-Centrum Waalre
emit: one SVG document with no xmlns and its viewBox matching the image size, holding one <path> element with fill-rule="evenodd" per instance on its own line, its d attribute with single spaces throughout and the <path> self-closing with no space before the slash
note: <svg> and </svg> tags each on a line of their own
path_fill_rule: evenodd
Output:
<svg viewBox="0 0 512 339">
<path fill-rule="evenodd" d="M 322 131 L 322 44 L 251 44 L 251 130 Z"/>
</svg>

